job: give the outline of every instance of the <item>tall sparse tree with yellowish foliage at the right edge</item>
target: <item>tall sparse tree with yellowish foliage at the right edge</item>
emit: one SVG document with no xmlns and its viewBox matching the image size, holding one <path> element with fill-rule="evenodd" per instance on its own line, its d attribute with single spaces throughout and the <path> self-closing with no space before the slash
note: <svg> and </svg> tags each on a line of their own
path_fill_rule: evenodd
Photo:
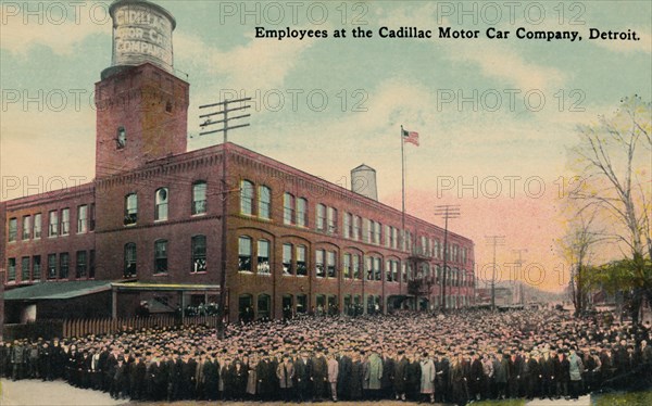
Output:
<svg viewBox="0 0 652 406">
<path fill-rule="evenodd" d="M 645 266 L 652 254 L 650 162 L 652 160 L 652 109 L 640 97 L 625 98 L 611 117 L 577 129 L 580 142 L 572 149 L 579 186 L 570 192 L 579 211 L 594 211 L 609 238 L 631 267 L 637 316 L 645 297 L 652 303 L 652 272 Z"/>
</svg>

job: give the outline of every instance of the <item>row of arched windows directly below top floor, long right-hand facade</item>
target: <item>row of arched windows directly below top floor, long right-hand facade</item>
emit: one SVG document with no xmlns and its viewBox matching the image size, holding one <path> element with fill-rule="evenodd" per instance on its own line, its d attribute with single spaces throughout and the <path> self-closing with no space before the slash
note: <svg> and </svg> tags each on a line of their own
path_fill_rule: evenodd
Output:
<svg viewBox="0 0 652 406">
<path fill-rule="evenodd" d="M 255 248 L 255 252 L 254 252 Z M 271 275 L 271 242 L 265 239 L 254 241 L 251 237 L 240 236 L 238 239 L 238 270 L 241 272 L 256 272 L 259 275 Z M 305 245 L 293 245 L 291 243 L 283 244 L 283 275 L 286 276 L 308 276 L 308 249 Z M 338 264 L 337 253 L 335 251 L 318 249 L 314 256 L 314 275 L 317 278 L 337 278 Z M 255 262 L 254 262 L 255 259 Z M 365 256 L 366 259 L 366 280 L 383 280 L 383 258 L 374 255 Z M 342 277 L 344 279 L 362 280 L 361 265 L 362 255 L 344 253 L 342 255 Z M 387 259 L 385 262 L 385 280 L 387 282 L 408 282 L 414 279 L 412 265 L 401 264 L 398 259 Z M 437 265 L 437 279 L 440 280 L 441 269 Z M 401 277 L 399 279 L 399 269 Z M 427 264 L 423 264 L 416 277 L 434 277 L 431 269 Z M 449 286 L 471 286 L 473 278 L 467 274 L 454 268 L 447 278 Z"/>
</svg>

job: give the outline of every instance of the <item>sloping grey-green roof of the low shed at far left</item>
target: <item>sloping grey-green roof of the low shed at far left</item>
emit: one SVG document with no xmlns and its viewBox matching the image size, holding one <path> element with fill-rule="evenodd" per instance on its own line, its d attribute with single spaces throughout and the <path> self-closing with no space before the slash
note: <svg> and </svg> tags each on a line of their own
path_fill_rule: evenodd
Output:
<svg viewBox="0 0 652 406">
<path fill-rule="evenodd" d="M 5 301 L 64 300 L 111 290 L 111 281 L 76 280 L 70 282 L 42 282 L 4 291 Z"/>
</svg>

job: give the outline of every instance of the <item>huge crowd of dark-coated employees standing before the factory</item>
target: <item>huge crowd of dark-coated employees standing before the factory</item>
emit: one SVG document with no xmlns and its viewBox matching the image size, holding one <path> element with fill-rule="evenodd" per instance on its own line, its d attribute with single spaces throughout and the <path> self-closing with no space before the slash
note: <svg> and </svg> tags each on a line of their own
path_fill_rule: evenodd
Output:
<svg viewBox="0 0 652 406">
<path fill-rule="evenodd" d="M 300 317 L 7 342 L 0 376 L 138 401 L 573 398 L 649 386 L 650 334 L 552 309 Z"/>
</svg>

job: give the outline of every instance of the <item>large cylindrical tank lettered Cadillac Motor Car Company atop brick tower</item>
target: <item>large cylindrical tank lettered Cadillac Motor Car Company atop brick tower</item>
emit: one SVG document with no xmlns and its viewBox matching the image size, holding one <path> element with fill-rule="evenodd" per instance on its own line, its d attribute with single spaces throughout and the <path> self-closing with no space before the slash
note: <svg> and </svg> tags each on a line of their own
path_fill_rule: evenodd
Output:
<svg viewBox="0 0 652 406">
<path fill-rule="evenodd" d="M 146 62 L 174 74 L 172 31 L 176 21 L 167 10 L 146 0 L 116 0 L 109 13 L 113 20 L 113 59 L 102 79 Z"/>
</svg>

